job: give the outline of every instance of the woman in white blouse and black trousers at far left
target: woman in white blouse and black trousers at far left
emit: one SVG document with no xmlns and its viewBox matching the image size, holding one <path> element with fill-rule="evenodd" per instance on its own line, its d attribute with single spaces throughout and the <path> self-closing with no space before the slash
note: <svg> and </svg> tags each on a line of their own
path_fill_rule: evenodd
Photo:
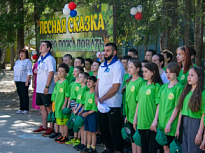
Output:
<svg viewBox="0 0 205 153">
<path fill-rule="evenodd" d="M 32 62 L 29 60 L 28 51 L 19 51 L 19 57 L 14 65 L 14 82 L 20 99 L 20 109 L 17 114 L 27 114 L 29 111 L 28 88 L 32 76 Z"/>
</svg>

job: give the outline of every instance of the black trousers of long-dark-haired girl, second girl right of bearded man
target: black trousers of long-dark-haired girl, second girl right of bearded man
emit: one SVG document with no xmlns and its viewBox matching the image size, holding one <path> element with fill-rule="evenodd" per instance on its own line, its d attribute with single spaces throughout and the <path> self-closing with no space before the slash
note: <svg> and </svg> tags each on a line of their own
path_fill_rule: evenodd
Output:
<svg viewBox="0 0 205 153">
<path fill-rule="evenodd" d="M 141 135 L 141 149 L 142 153 L 157 153 L 160 149 L 160 153 L 163 152 L 163 147 L 160 146 L 155 140 L 156 132 L 151 130 L 139 130 Z"/>
</svg>

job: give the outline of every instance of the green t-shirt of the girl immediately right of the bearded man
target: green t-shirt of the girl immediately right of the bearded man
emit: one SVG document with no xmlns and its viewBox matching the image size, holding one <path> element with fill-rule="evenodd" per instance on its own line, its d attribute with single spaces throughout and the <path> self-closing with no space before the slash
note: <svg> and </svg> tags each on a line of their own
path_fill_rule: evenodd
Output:
<svg viewBox="0 0 205 153">
<path fill-rule="evenodd" d="M 135 116 L 135 111 L 136 111 L 136 106 L 137 106 L 137 101 L 136 101 L 136 96 L 142 87 L 144 82 L 144 79 L 139 77 L 135 81 L 130 81 L 126 85 L 126 102 L 125 102 L 125 110 L 126 110 L 126 116 L 127 120 L 130 123 L 133 123 L 134 121 L 134 116 Z"/>
</svg>

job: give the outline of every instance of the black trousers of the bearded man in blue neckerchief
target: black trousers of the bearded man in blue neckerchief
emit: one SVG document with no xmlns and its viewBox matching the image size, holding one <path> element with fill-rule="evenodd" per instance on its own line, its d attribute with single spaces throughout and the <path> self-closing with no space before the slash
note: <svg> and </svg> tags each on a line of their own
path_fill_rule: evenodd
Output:
<svg viewBox="0 0 205 153">
<path fill-rule="evenodd" d="M 98 111 L 98 121 L 103 143 L 110 152 L 123 152 L 121 108 L 110 108 L 108 113 Z"/>
</svg>

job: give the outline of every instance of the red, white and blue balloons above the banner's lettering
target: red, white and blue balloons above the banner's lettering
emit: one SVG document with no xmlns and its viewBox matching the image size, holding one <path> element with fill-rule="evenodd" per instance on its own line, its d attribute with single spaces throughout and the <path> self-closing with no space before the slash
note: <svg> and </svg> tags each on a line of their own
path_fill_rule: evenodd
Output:
<svg viewBox="0 0 205 153">
<path fill-rule="evenodd" d="M 69 15 L 71 17 L 75 17 L 77 15 L 77 11 L 75 10 L 76 4 L 74 2 L 70 2 L 69 4 L 65 4 L 63 8 L 63 14 Z"/>
</svg>

